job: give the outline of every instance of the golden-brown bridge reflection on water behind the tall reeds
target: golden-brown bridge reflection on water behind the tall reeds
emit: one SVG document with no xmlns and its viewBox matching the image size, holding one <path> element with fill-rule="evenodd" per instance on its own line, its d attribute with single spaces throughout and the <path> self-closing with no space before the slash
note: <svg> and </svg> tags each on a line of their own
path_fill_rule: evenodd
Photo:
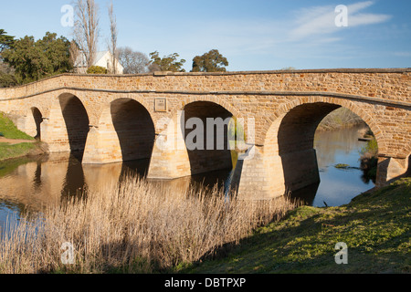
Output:
<svg viewBox="0 0 411 292">
<path fill-rule="evenodd" d="M 209 172 L 175 180 L 147 180 L 149 160 L 110 164 L 82 164 L 76 153 L 51 153 L 35 161 L 22 159 L 14 162 L 10 172 L 0 177 L 0 200 L 16 203 L 15 207 L 40 211 L 45 206 L 60 203 L 62 199 L 84 193 L 105 192 L 127 176 L 145 179 L 157 188 L 167 187 L 185 192 L 200 186 L 211 188 L 224 183 L 231 170 Z M 21 163 L 18 165 L 18 163 Z"/>
</svg>

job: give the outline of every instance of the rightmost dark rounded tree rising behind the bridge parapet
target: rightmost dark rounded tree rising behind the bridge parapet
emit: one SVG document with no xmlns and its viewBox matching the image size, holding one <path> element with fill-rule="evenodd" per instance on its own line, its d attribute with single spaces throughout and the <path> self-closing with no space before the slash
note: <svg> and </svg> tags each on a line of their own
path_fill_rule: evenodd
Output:
<svg viewBox="0 0 411 292">
<path fill-rule="evenodd" d="M 212 49 L 203 56 L 196 56 L 193 59 L 192 72 L 226 72 L 228 66 L 226 57 L 223 57 L 218 50 Z"/>
</svg>

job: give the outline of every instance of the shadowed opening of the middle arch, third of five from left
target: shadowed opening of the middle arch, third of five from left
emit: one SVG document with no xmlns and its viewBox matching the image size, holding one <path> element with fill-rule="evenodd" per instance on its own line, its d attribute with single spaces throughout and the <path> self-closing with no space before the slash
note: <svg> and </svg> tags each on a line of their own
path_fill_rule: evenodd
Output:
<svg viewBox="0 0 411 292">
<path fill-rule="evenodd" d="M 150 160 L 155 128 L 148 110 L 133 99 L 117 99 L 111 103 L 111 119 L 119 137 L 122 161 Z"/>
</svg>

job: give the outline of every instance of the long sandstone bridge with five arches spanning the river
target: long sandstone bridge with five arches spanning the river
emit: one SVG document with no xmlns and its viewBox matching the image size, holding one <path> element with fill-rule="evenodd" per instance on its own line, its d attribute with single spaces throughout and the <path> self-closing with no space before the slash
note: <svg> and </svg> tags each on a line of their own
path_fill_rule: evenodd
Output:
<svg viewBox="0 0 411 292">
<path fill-rule="evenodd" d="M 410 68 L 67 74 L 0 89 L 0 110 L 14 117 L 20 130 L 47 142 L 50 152 L 83 151 L 84 164 L 150 158 L 147 176 L 155 179 L 232 167 L 227 147 L 159 147 L 164 139 L 184 145 L 190 130 L 175 126 L 179 122 L 251 118 L 245 130 L 254 139 L 245 159 L 237 162 L 232 181 L 233 188 L 250 199 L 272 198 L 319 182 L 314 133 L 321 120 L 340 107 L 352 110 L 374 132 L 377 186 L 408 171 Z"/>
</svg>

